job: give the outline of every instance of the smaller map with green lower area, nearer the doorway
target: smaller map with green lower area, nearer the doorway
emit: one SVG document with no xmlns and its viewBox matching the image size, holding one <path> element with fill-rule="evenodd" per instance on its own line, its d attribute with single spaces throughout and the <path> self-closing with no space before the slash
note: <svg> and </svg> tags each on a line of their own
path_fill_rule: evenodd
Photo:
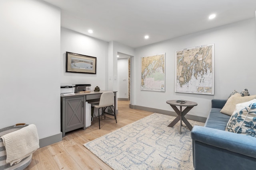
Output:
<svg viewBox="0 0 256 170">
<path fill-rule="evenodd" d="M 140 90 L 165 92 L 165 53 L 141 57 Z"/>
</svg>

